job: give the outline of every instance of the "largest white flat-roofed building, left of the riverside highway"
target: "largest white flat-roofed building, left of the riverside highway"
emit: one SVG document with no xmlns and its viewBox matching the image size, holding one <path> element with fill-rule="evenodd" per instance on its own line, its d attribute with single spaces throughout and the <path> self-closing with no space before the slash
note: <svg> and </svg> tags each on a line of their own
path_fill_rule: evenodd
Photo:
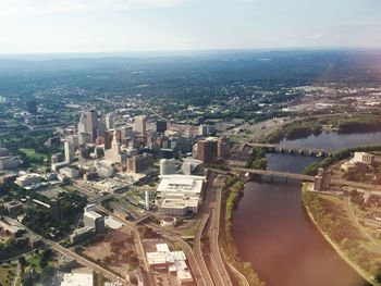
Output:
<svg viewBox="0 0 381 286">
<path fill-rule="evenodd" d="M 157 188 L 156 204 L 160 213 L 173 216 L 196 214 L 201 200 L 205 177 L 163 175 Z"/>
</svg>

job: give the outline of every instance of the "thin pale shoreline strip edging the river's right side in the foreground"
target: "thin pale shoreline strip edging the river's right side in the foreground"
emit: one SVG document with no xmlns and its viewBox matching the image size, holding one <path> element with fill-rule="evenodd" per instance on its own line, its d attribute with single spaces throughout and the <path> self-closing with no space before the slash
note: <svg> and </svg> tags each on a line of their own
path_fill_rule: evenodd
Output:
<svg viewBox="0 0 381 286">
<path fill-rule="evenodd" d="M 303 195 L 305 195 L 305 192 L 307 192 L 308 190 L 303 189 L 302 192 Z M 318 196 L 318 195 L 317 195 Z M 304 197 L 304 196 L 303 196 Z M 314 223 L 314 225 L 316 226 L 316 228 L 318 229 L 318 232 L 321 234 L 321 236 L 325 239 L 325 241 L 328 241 L 330 244 L 330 246 L 336 251 L 336 253 L 341 257 L 341 259 L 343 259 L 353 270 L 355 270 L 358 275 L 360 275 L 365 281 L 367 281 L 368 283 L 370 283 L 371 285 L 380 285 L 377 284 L 377 282 L 373 278 L 373 275 L 367 273 L 366 271 L 364 271 L 358 264 L 356 264 L 355 262 L 353 262 L 351 260 L 351 258 L 348 257 L 348 254 L 343 251 L 341 249 L 341 247 L 339 246 L 337 243 L 335 243 L 329 235 L 328 232 L 324 232 L 321 226 L 319 225 L 319 223 L 317 222 L 317 220 L 314 217 L 314 214 L 310 210 L 310 208 L 308 207 L 308 203 L 306 203 L 305 199 L 303 199 L 303 206 L 310 219 L 310 221 Z M 347 238 L 344 238 L 347 239 Z"/>
</svg>

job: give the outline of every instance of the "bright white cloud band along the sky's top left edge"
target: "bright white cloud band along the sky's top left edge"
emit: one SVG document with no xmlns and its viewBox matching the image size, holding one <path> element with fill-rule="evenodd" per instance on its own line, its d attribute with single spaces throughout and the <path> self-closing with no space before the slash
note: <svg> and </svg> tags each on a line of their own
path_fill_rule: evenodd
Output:
<svg viewBox="0 0 381 286">
<path fill-rule="evenodd" d="M 181 2 L 183 0 L 0 0 L 0 15 L 159 9 Z"/>
</svg>

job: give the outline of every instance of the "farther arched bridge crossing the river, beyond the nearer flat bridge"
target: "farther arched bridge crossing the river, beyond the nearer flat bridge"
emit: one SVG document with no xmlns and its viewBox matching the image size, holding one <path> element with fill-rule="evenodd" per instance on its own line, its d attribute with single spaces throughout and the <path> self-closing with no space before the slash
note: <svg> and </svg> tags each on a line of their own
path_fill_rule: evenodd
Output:
<svg viewBox="0 0 381 286">
<path fill-rule="evenodd" d="M 319 148 L 295 147 L 295 146 L 285 146 L 285 145 L 276 145 L 276 144 L 259 144 L 259 142 L 246 142 L 242 147 L 242 150 L 245 150 L 250 147 L 261 147 L 271 152 L 279 152 L 279 153 L 304 154 L 304 156 L 314 156 L 314 157 L 332 156 L 332 152 L 324 149 L 319 149 Z"/>
</svg>

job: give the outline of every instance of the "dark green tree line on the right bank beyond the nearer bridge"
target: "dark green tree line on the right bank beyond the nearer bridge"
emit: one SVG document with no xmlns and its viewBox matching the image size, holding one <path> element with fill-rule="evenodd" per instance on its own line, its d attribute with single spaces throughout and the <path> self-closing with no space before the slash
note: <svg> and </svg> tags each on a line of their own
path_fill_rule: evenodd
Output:
<svg viewBox="0 0 381 286">
<path fill-rule="evenodd" d="M 331 157 L 325 158 L 321 162 L 316 162 L 307 166 L 303 171 L 303 173 L 306 175 L 315 176 L 318 173 L 319 167 L 328 167 L 336 161 L 347 159 L 353 154 L 353 152 L 370 152 L 370 151 L 380 151 L 380 150 L 381 150 L 381 145 L 360 146 L 356 148 L 343 149 L 333 153 Z"/>
</svg>

